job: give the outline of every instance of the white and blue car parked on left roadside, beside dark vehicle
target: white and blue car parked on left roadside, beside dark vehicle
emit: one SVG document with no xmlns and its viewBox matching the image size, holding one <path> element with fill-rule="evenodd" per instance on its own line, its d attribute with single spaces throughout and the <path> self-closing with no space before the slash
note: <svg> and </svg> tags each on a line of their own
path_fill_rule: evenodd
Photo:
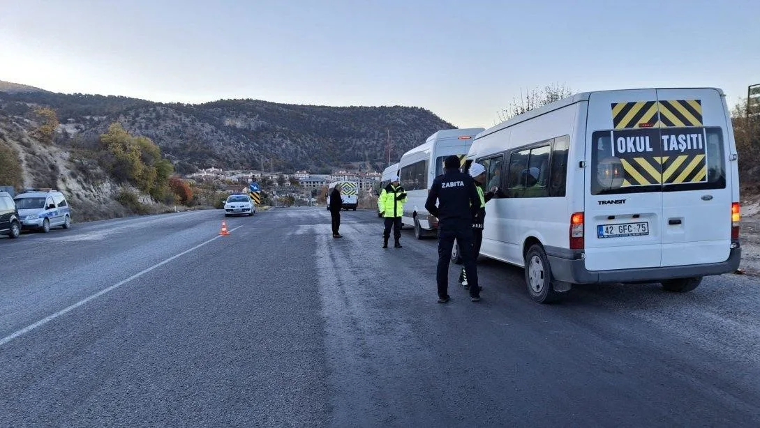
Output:
<svg viewBox="0 0 760 428">
<path fill-rule="evenodd" d="M 28 189 L 17 194 L 14 201 L 21 228 L 47 233 L 50 228 L 71 227 L 71 207 L 58 190 Z"/>
</svg>

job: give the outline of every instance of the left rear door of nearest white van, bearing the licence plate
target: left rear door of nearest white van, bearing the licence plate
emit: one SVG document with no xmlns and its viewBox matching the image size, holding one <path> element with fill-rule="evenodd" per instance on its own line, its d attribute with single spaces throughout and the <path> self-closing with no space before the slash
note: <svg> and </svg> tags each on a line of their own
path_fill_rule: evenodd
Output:
<svg viewBox="0 0 760 428">
<path fill-rule="evenodd" d="M 589 96 L 584 211 L 586 269 L 660 266 L 663 194 L 660 170 L 653 160 L 659 153 L 659 130 L 640 126 L 656 116 L 656 90 L 610 91 Z"/>
</svg>

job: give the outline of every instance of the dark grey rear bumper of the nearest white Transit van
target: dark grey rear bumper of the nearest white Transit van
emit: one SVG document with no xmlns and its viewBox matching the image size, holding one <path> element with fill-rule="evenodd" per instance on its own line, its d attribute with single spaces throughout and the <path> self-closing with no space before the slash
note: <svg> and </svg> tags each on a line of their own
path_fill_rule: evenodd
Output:
<svg viewBox="0 0 760 428">
<path fill-rule="evenodd" d="M 556 281 L 571 284 L 600 284 L 613 282 L 659 282 L 665 279 L 690 278 L 693 276 L 722 275 L 736 271 L 742 258 L 742 248 L 736 242 L 728 259 L 720 263 L 702 265 L 650 267 L 641 269 L 618 269 L 606 271 L 587 270 L 581 257 L 582 250 L 545 247 L 546 258 Z"/>
</svg>

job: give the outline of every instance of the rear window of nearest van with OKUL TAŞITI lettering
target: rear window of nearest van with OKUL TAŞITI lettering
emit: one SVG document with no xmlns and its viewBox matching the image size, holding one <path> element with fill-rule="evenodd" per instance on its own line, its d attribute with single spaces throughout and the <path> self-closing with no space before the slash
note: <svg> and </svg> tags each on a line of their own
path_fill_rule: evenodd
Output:
<svg viewBox="0 0 760 428">
<path fill-rule="evenodd" d="M 726 187 L 720 127 L 596 131 L 592 144 L 594 195 Z"/>
</svg>

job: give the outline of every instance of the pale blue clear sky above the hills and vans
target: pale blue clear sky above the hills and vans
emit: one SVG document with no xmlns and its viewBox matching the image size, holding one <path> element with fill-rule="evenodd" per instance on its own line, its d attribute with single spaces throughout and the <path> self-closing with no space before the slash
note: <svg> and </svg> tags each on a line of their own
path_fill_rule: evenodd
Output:
<svg viewBox="0 0 760 428">
<path fill-rule="evenodd" d="M 160 102 L 413 105 L 760 83 L 760 1 L 0 0 L 0 80 Z"/>
</svg>

